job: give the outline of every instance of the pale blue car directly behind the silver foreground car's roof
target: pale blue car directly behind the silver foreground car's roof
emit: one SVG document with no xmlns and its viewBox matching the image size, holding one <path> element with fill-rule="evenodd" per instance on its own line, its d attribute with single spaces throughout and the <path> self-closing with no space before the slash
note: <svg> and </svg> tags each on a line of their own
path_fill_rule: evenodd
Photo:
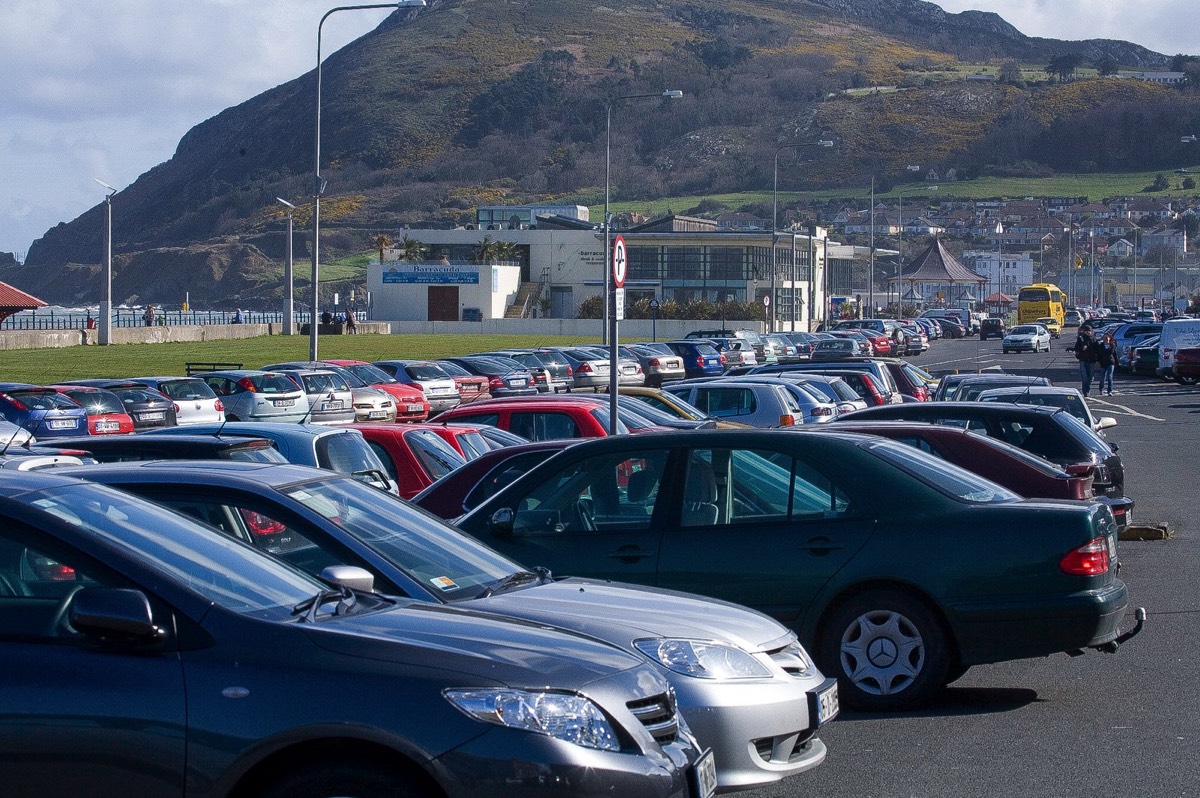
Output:
<svg viewBox="0 0 1200 798">
<path fill-rule="evenodd" d="M 266 438 L 289 463 L 328 468 L 391 493 L 398 490 L 388 478 L 388 469 L 362 438 L 362 433 L 346 426 L 242 421 L 223 425 L 194 424 L 162 430 L 158 434 Z"/>
</svg>

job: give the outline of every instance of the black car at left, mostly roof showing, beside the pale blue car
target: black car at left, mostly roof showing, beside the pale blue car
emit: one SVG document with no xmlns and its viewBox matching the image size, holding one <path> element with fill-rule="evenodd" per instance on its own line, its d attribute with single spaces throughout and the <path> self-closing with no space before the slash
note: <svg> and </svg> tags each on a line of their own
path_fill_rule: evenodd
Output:
<svg viewBox="0 0 1200 798">
<path fill-rule="evenodd" d="M 101 438 L 61 438 L 56 445 L 85 451 L 101 463 L 125 463 L 142 460 L 234 460 L 246 463 L 286 463 L 275 444 L 266 438 L 206 434 L 104 436 Z"/>
</svg>

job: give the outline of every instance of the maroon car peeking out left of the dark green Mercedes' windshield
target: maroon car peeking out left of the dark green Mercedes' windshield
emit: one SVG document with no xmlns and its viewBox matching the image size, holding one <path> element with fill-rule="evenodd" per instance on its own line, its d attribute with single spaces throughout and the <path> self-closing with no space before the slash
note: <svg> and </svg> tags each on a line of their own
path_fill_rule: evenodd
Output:
<svg viewBox="0 0 1200 798">
<path fill-rule="evenodd" d="M 457 518 L 572 443 L 559 438 L 493 449 L 430 485 L 413 497 L 413 504 L 439 518 Z"/>
</svg>

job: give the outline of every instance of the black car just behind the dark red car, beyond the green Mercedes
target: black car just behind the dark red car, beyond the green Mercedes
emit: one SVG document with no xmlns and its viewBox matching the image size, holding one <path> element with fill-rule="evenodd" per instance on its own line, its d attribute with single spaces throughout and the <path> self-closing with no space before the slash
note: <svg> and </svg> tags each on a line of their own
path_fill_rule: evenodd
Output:
<svg viewBox="0 0 1200 798">
<path fill-rule="evenodd" d="M 872 407 L 840 416 L 841 421 L 924 421 L 962 427 L 1052 463 L 1096 469 L 1097 496 L 1124 496 L 1124 467 L 1114 445 L 1066 410 L 1007 402 L 920 402 Z"/>
</svg>

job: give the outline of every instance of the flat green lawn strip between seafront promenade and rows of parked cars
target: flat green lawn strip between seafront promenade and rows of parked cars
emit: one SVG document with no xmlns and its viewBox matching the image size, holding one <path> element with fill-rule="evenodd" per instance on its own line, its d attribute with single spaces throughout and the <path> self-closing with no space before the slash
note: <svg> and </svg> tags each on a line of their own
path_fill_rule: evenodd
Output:
<svg viewBox="0 0 1200 798">
<path fill-rule="evenodd" d="M 446 358 L 515 347 L 598 343 L 599 337 L 533 335 L 337 335 L 320 340 L 330 360 Z M 66 349 L 0 352 L 0 382 L 49 385 L 89 377 L 156 377 L 185 373 L 185 362 L 240 362 L 246 368 L 308 359 L 308 336 L 266 335 L 203 343 L 127 343 Z"/>
</svg>

